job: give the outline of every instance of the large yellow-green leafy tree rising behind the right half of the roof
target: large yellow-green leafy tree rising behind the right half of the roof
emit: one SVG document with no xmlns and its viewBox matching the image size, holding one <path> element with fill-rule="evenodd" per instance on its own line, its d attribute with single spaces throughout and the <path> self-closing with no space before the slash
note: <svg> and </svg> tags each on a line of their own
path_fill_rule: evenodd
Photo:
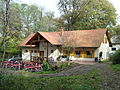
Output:
<svg viewBox="0 0 120 90">
<path fill-rule="evenodd" d="M 59 27 L 66 30 L 106 28 L 116 24 L 113 5 L 108 0 L 59 0 L 62 16 Z"/>
</svg>

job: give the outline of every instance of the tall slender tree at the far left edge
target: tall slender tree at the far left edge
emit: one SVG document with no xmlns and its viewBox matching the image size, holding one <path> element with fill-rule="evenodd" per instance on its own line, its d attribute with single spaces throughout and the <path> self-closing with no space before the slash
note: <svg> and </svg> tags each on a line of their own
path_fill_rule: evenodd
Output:
<svg viewBox="0 0 120 90">
<path fill-rule="evenodd" d="M 6 46 L 7 46 L 7 41 L 9 40 L 9 6 L 10 6 L 10 1 L 11 0 L 1 0 L 0 4 L 0 11 L 1 11 L 1 17 L 0 17 L 0 22 L 1 22 L 1 35 L 2 35 L 2 45 L 3 45 L 3 57 L 2 61 L 5 58 L 5 53 L 6 53 Z"/>
</svg>

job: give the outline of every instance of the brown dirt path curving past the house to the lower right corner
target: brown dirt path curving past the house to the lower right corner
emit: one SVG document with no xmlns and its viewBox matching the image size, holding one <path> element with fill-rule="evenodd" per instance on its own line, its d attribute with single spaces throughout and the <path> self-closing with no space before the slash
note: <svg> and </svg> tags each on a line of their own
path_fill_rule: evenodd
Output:
<svg viewBox="0 0 120 90">
<path fill-rule="evenodd" d="M 109 63 L 101 63 L 94 65 L 82 65 L 82 64 L 74 64 L 73 66 L 60 71 L 54 74 L 31 74 L 32 77 L 57 77 L 57 76 L 72 76 L 72 75 L 83 75 L 88 71 L 97 69 L 103 81 L 101 82 L 101 90 L 120 90 L 120 72 L 115 72 L 110 68 Z M 6 70 L 0 68 L 1 73 L 5 74 L 21 74 L 18 71 Z M 27 76 L 27 74 L 24 74 Z"/>
</svg>

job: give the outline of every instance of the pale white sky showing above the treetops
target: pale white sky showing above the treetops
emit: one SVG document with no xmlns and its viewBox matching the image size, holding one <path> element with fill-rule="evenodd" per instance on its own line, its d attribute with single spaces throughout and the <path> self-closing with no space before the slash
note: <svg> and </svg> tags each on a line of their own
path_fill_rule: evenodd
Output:
<svg viewBox="0 0 120 90">
<path fill-rule="evenodd" d="M 20 3 L 27 3 L 27 4 L 36 4 L 38 6 L 42 6 L 45 10 L 54 11 L 55 17 L 59 17 L 60 13 L 57 8 L 57 3 L 59 0 L 17 0 Z M 116 13 L 120 18 L 120 0 L 109 0 L 113 6 L 116 8 Z"/>
</svg>

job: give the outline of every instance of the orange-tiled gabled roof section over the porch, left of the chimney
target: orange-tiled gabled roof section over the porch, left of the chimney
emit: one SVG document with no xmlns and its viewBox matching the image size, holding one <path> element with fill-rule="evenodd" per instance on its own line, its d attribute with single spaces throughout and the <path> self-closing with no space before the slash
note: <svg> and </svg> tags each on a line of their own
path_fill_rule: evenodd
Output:
<svg viewBox="0 0 120 90">
<path fill-rule="evenodd" d="M 30 34 L 27 38 L 25 38 L 19 46 L 21 47 L 30 47 L 31 41 L 36 41 L 38 39 L 44 38 L 44 41 L 48 41 L 52 45 L 61 45 L 61 38 L 57 32 L 37 32 L 34 34 Z M 38 40 L 39 41 L 39 40 Z M 35 42 L 34 42 L 35 43 Z M 33 43 L 33 44 L 34 44 Z M 35 46 L 33 45 L 32 46 Z"/>
</svg>

